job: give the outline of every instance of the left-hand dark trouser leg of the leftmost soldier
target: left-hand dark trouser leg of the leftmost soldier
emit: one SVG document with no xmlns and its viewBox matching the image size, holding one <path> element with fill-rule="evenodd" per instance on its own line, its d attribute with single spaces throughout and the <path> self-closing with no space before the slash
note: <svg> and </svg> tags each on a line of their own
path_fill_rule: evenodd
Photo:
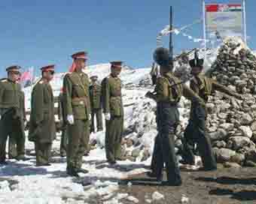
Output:
<svg viewBox="0 0 256 204">
<path fill-rule="evenodd" d="M 6 159 L 6 141 L 8 134 L 11 133 L 12 128 L 12 115 L 6 114 L 0 120 L 0 162 Z"/>
</svg>

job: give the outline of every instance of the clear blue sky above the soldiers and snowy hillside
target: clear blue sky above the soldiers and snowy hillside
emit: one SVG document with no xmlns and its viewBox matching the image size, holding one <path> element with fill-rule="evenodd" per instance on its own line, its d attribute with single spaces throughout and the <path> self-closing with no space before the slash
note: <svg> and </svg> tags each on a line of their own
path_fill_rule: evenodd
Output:
<svg viewBox="0 0 256 204">
<path fill-rule="evenodd" d="M 255 49 L 256 1 L 246 1 L 248 46 Z M 169 24 L 170 5 L 175 27 L 202 17 L 200 0 L 1 1 L 0 77 L 6 76 L 5 68 L 10 65 L 23 69 L 33 66 L 36 74 L 50 64 L 56 65 L 56 72 L 67 71 L 72 64 L 70 55 L 83 50 L 89 54 L 88 65 L 121 60 L 133 68 L 148 67 L 157 46 L 157 34 Z M 202 37 L 203 25 L 185 32 Z M 163 37 L 166 47 L 168 39 Z M 173 41 L 175 53 L 200 46 L 181 34 L 175 35 Z"/>
</svg>

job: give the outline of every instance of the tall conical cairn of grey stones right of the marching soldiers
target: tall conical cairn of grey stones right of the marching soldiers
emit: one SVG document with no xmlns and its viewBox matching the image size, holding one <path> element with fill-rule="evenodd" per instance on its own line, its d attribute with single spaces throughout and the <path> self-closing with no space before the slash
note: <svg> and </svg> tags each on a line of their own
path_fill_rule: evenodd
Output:
<svg viewBox="0 0 256 204">
<path fill-rule="evenodd" d="M 227 167 L 256 166 L 256 57 L 244 47 L 227 40 L 212 65 L 212 77 L 244 97 L 217 92 L 207 104 L 212 145 L 218 163 Z"/>
</svg>

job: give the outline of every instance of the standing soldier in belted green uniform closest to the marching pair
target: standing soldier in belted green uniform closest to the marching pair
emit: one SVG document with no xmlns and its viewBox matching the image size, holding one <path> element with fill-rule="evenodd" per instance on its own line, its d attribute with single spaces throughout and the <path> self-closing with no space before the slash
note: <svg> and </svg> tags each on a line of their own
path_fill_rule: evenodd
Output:
<svg viewBox="0 0 256 204">
<path fill-rule="evenodd" d="M 105 114 L 105 151 L 108 163 L 121 160 L 123 135 L 123 101 L 121 80 L 118 77 L 122 62 L 111 62 L 111 74 L 102 80 L 102 107 Z"/>
</svg>

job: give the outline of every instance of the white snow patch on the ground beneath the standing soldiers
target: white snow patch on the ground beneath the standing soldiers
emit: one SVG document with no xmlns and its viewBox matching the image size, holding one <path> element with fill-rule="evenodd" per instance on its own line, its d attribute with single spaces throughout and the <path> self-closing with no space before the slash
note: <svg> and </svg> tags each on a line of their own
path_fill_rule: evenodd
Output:
<svg viewBox="0 0 256 204">
<path fill-rule="evenodd" d="M 104 132 L 98 134 L 104 137 Z M 57 136 L 53 149 L 59 148 L 59 140 Z M 27 141 L 26 149 L 33 150 L 33 143 Z M 117 181 L 134 172 L 145 172 L 145 165 L 149 165 L 149 160 L 144 163 L 120 161 L 109 166 L 105 161 L 105 149 L 96 148 L 90 151 L 89 157 L 84 157 L 83 168 L 89 173 L 75 178 L 66 175 L 65 157 L 53 157 L 52 166 L 38 167 L 34 156 L 29 161 L 8 160 L 8 165 L 0 166 L 0 203 L 79 203 L 91 196 L 113 199 L 118 190 Z M 84 187 L 87 183 L 90 185 Z"/>
</svg>

